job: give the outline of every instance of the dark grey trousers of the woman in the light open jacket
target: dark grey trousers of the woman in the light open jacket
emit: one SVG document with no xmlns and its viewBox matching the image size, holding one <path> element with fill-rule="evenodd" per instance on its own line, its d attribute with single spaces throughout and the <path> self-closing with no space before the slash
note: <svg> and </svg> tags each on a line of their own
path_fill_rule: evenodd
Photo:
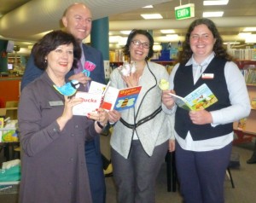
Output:
<svg viewBox="0 0 256 203">
<path fill-rule="evenodd" d="M 140 141 L 131 142 L 131 152 L 125 159 L 111 148 L 113 180 L 119 203 L 154 203 L 155 181 L 165 161 L 168 142 L 154 148 L 152 156 L 145 153 Z"/>
</svg>

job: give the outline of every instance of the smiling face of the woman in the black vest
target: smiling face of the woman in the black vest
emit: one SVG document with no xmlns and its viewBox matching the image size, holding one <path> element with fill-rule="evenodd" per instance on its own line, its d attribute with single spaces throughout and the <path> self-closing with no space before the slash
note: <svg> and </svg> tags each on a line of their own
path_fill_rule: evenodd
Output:
<svg viewBox="0 0 256 203">
<path fill-rule="evenodd" d="M 195 26 L 189 38 L 190 48 L 193 51 L 195 61 L 201 63 L 201 61 L 206 59 L 212 53 L 215 42 L 216 39 L 206 25 Z"/>
</svg>

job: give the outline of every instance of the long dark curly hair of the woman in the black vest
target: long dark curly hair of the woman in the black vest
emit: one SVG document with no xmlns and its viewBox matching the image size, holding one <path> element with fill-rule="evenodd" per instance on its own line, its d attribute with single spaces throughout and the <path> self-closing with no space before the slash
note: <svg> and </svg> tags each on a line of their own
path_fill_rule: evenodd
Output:
<svg viewBox="0 0 256 203">
<path fill-rule="evenodd" d="M 185 41 L 183 42 L 183 52 L 179 55 L 179 62 L 185 64 L 189 61 L 190 57 L 193 55 L 192 49 L 190 48 L 189 38 L 191 32 L 194 31 L 195 26 L 206 25 L 208 29 L 212 32 L 213 38 L 216 39 L 216 42 L 213 46 L 213 51 L 215 55 L 219 58 L 224 58 L 227 61 L 231 61 L 232 57 L 227 53 L 227 50 L 224 49 L 223 39 L 221 38 L 217 26 L 215 26 L 214 22 L 207 18 L 200 18 L 194 20 L 186 33 Z"/>
</svg>

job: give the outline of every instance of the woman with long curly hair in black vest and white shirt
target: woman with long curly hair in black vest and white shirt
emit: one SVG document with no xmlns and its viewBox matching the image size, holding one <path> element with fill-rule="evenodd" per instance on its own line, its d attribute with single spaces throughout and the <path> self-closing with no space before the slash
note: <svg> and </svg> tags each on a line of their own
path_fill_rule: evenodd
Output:
<svg viewBox="0 0 256 203">
<path fill-rule="evenodd" d="M 177 177 L 186 203 L 224 203 L 233 122 L 251 109 L 245 80 L 230 60 L 212 20 L 194 20 L 170 75 L 170 90 L 162 96 L 164 111 L 175 113 Z M 184 110 L 168 94 L 184 97 L 202 84 L 218 99 L 207 109 Z"/>
</svg>

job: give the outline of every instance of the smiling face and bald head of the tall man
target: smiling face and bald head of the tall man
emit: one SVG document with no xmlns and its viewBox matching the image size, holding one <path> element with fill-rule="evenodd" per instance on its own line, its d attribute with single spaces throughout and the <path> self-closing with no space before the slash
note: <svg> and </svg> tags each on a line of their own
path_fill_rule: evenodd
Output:
<svg viewBox="0 0 256 203">
<path fill-rule="evenodd" d="M 85 7 L 84 4 L 73 5 L 62 17 L 62 23 L 67 32 L 71 33 L 80 42 L 90 35 L 91 20 L 90 9 Z"/>
</svg>

